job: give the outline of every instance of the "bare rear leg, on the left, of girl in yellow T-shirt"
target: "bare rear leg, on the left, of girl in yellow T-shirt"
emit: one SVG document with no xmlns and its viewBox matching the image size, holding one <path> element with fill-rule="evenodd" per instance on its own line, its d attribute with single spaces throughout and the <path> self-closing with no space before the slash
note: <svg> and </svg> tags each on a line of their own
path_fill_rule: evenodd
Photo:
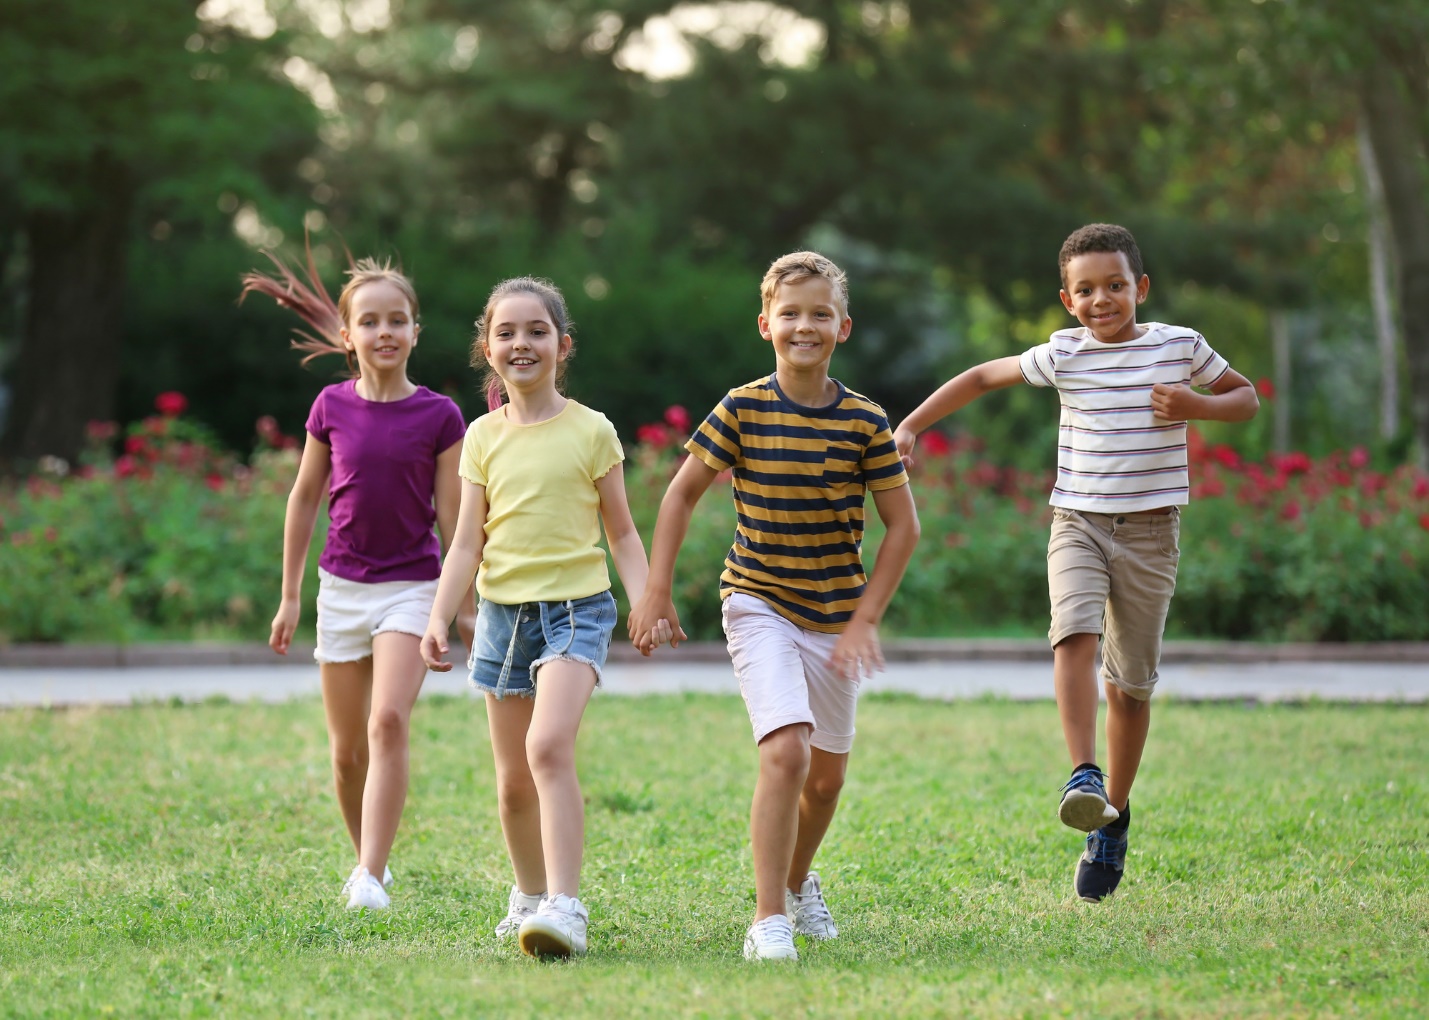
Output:
<svg viewBox="0 0 1429 1020">
<path fill-rule="evenodd" d="M 536 699 L 486 696 L 486 724 L 496 759 L 496 807 L 512 859 L 516 887 L 529 896 L 546 891 L 546 859 L 540 843 L 540 797 L 526 761 L 526 734 Z"/>
</svg>

